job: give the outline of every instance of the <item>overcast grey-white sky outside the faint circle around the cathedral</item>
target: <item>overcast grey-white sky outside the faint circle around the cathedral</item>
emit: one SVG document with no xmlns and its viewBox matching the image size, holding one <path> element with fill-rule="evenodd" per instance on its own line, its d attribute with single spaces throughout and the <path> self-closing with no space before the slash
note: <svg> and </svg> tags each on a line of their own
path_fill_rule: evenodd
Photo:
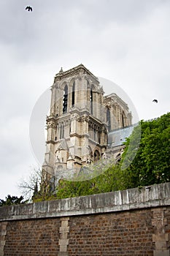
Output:
<svg viewBox="0 0 170 256">
<path fill-rule="evenodd" d="M 31 113 L 61 67 L 116 83 L 139 119 L 169 112 L 169 0 L 0 0 L 0 12 L 1 199 L 36 165 Z"/>
</svg>

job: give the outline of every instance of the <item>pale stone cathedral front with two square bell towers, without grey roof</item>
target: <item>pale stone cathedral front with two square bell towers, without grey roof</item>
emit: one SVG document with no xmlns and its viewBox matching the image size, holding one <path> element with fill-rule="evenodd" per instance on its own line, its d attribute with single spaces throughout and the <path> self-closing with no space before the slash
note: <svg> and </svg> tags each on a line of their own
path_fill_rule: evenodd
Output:
<svg viewBox="0 0 170 256">
<path fill-rule="evenodd" d="M 98 78 L 84 65 L 55 75 L 51 87 L 50 115 L 42 169 L 53 176 L 66 170 L 79 173 L 82 167 L 120 151 L 109 135 L 131 127 L 128 105 L 117 94 L 104 96 Z"/>
</svg>

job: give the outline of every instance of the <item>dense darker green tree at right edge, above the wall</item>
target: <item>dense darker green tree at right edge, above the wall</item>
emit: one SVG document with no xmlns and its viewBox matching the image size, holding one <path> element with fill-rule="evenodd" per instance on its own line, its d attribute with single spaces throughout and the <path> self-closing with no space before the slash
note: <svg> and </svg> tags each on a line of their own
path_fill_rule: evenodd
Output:
<svg viewBox="0 0 170 256">
<path fill-rule="evenodd" d="M 125 170 L 127 188 L 170 181 L 170 113 L 152 121 L 141 121 L 140 125 L 142 137 L 139 148 L 136 157 Z M 130 140 L 135 141 L 137 129 L 134 128 L 125 143 L 121 162 L 125 159 Z"/>
</svg>

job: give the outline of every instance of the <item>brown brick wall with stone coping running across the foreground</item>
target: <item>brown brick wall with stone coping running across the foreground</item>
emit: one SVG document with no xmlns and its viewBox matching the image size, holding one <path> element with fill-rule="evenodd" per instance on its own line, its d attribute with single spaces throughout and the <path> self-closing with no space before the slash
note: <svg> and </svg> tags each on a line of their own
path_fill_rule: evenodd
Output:
<svg viewBox="0 0 170 256">
<path fill-rule="evenodd" d="M 170 183 L 0 207 L 1 256 L 170 255 Z"/>
</svg>

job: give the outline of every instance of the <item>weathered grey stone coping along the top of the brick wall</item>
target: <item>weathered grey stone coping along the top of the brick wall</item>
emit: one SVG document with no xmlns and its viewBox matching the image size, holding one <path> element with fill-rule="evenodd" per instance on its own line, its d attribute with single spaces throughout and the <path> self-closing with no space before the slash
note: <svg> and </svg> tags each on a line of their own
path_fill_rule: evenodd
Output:
<svg viewBox="0 0 170 256">
<path fill-rule="evenodd" d="M 170 206 L 170 183 L 97 195 L 0 207 L 0 221 L 71 217 Z"/>
</svg>

